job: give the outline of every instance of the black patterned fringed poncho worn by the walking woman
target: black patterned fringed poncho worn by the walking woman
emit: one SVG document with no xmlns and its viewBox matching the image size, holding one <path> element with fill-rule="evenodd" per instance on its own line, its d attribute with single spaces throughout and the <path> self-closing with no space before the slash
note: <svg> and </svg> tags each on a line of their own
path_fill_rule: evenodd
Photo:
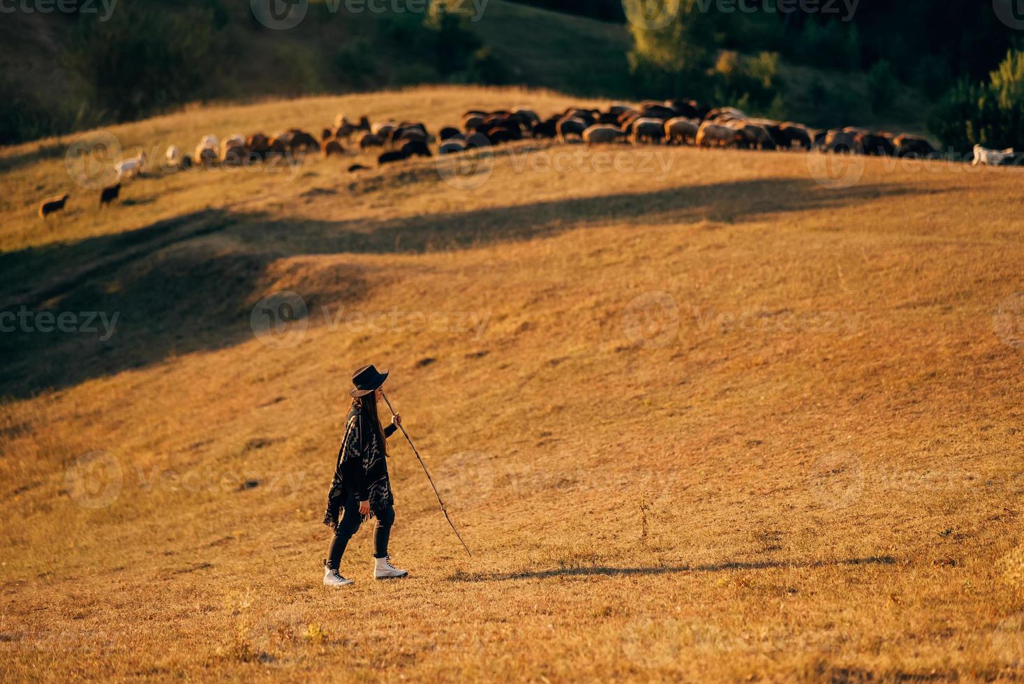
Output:
<svg viewBox="0 0 1024 684">
<path fill-rule="evenodd" d="M 394 432 L 393 425 L 384 430 L 385 437 Z M 338 526 L 338 515 L 348 493 L 359 501 L 370 501 L 370 514 L 376 515 L 393 505 L 394 496 L 387 477 L 387 461 L 380 432 L 361 407 L 352 407 L 345 421 L 345 435 L 338 450 L 334 478 L 327 495 L 324 524 Z"/>
</svg>

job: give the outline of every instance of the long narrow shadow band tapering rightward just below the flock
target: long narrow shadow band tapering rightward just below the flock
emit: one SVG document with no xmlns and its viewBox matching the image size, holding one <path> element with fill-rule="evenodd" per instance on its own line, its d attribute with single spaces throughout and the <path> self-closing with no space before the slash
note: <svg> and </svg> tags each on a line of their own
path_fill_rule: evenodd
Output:
<svg viewBox="0 0 1024 684">
<path fill-rule="evenodd" d="M 292 220 L 249 214 L 238 216 L 238 233 L 257 243 L 289 244 L 307 253 L 420 253 L 528 240 L 579 227 L 629 221 L 732 223 L 783 212 L 856 207 L 881 198 L 924 193 L 927 190 L 897 184 L 864 184 L 829 190 L 811 180 L 768 178 L 651 193 L 549 200 L 379 222 Z"/>
</svg>

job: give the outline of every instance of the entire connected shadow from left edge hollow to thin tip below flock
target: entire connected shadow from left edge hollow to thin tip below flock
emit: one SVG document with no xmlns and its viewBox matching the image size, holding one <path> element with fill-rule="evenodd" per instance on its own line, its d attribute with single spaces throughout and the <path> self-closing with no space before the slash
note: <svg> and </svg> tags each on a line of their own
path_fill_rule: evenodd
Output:
<svg viewBox="0 0 1024 684">
<path fill-rule="evenodd" d="M 426 174 L 421 180 L 437 182 L 434 169 L 416 173 Z M 414 190 L 420 189 L 416 178 L 410 180 Z M 348 189 L 357 193 L 357 183 Z M 894 184 L 828 191 L 806 179 L 760 179 L 376 222 L 207 210 L 119 234 L 0 254 L 0 292 L 6 300 L 0 303 L 0 315 L 7 322 L 9 314 L 23 310 L 33 316 L 119 316 L 106 340 L 80 331 L 41 333 L 24 327 L 0 333 L 5 360 L 0 395 L 74 386 L 170 356 L 252 340 L 252 305 L 266 294 L 269 282 L 298 292 L 312 306 L 358 301 L 374 280 L 362 267 L 339 264 L 330 266 L 319 282 L 306 277 L 276 285 L 279 279 L 268 277 L 267 269 L 278 259 L 465 249 L 615 222 L 734 222 L 781 212 L 837 210 L 920 191 Z M 197 240 L 214 232 L 244 248 Z"/>
</svg>

